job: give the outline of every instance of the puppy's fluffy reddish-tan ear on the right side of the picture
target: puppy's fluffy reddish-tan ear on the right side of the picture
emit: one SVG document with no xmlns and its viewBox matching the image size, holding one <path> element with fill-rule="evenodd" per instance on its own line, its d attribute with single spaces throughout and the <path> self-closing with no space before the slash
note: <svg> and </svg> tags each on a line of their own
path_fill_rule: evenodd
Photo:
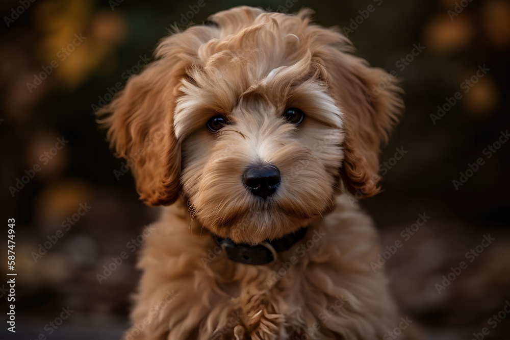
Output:
<svg viewBox="0 0 510 340">
<path fill-rule="evenodd" d="M 345 188 L 356 197 L 379 191 L 379 152 L 403 109 L 402 90 L 395 77 L 373 68 L 354 56 L 350 41 L 342 34 L 323 30 L 317 50 L 331 95 L 344 113 L 345 158 L 340 171 Z"/>
</svg>

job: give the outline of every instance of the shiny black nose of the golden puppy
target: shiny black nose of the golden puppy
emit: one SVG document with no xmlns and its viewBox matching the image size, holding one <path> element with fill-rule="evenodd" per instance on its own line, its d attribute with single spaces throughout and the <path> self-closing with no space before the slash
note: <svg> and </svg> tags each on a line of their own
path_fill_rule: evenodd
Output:
<svg viewBox="0 0 510 340">
<path fill-rule="evenodd" d="M 280 183 L 280 171 L 274 165 L 248 166 L 243 182 L 253 195 L 265 198 L 276 191 Z"/>
</svg>

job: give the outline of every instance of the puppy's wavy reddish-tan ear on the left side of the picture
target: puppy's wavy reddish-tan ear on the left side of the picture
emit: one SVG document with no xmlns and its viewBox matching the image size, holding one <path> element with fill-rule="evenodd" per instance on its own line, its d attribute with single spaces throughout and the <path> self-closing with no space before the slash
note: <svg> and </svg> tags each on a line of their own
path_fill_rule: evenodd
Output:
<svg viewBox="0 0 510 340">
<path fill-rule="evenodd" d="M 179 196 L 181 145 L 173 131 L 173 112 L 175 89 L 185 75 L 183 60 L 156 60 L 98 111 L 111 147 L 131 167 L 147 205 L 169 205 Z"/>
</svg>

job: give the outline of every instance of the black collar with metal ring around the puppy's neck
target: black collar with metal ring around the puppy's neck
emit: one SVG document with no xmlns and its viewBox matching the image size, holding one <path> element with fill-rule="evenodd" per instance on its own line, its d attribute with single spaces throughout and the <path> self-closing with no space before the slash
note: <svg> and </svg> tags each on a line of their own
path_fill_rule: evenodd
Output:
<svg viewBox="0 0 510 340">
<path fill-rule="evenodd" d="M 214 240 L 226 253 L 226 256 L 235 262 L 246 264 L 267 264 L 276 260 L 277 253 L 289 250 L 297 241 L 303 238 L 307 228 L 301 228 L 295 233 L 287 234 L 272 241 L 265 240 L 257 246 L 235 244 L 230 238 L 219 237 L 213 234 Z"/>
</svg>

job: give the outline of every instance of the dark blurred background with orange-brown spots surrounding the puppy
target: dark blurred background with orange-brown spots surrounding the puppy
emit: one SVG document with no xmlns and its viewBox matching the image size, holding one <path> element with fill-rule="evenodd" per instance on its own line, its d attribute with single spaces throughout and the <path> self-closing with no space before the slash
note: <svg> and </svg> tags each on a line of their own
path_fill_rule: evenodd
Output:
<svg viewBox="0 0 510 340">
<path fill-rule="evenodd" d="M 136 238 L 157 209 L 138 201 L 94 111 L 172 27 L 241 5 L 197 3 L 0 3 L 0 244 L 6 263 L 15 218 L 18 274 L 15 334 L 5 330 L 0 281 L 2 338 L 119 339 L 127 327 Z M 242 4 L 310 7 L 316 22 L 339 27 L 362 57 L 402 79 L 406 113 L 380 158 L 385 191 L 360 202 L 389 252 L 374 263 L 388 272 L 402 317 L 430 338 L 510 338 L 510 2 Z M 62 308 L 70 315 L 59 321 Z"/>
</svg>

